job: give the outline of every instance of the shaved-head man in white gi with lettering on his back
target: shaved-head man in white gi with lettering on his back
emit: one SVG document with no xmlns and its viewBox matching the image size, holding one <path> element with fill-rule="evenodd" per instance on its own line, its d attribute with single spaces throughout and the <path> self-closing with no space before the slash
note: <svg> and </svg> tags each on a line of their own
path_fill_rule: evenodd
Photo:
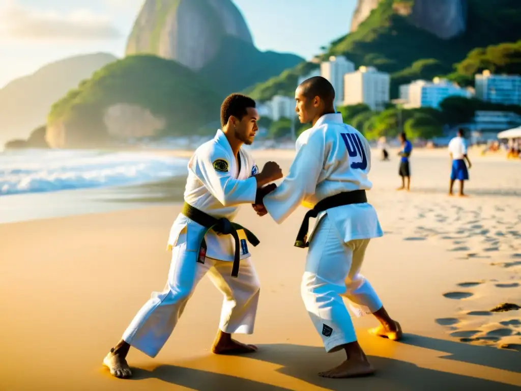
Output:
<svg viewBox="0 0 521 391">
<path fill-rule="evenodd" d="M 289 174 L 276 190 L 257 204 L 257 214 L 269 213 L 282 223 L 300 205 L 312 207 L 299 230 L 295 246 L 309 247 L 302 279 L 302 298 L 326 351 L 344 349 L 345 362 L 324 377 L 371 374 L 373 367 L 358 345 L 353 322 L 342 298 L 360 316 L 374 314 L 381 325 L 371 333 L 398 340 L 400 324 L 383 308 L 371 284 L 360 274 L 371 238 L 383 235 L 378 216 L 367 203 L 372 187 L 369 143 L 343 123 L 333 106 L 334 89 L 320 76 L 305 80 L 295 92 L 301 123 L 312 128 L 296 140 L 296 156 Z M 317 217 L 307 241 L 308 218 Z"/>
</svg>

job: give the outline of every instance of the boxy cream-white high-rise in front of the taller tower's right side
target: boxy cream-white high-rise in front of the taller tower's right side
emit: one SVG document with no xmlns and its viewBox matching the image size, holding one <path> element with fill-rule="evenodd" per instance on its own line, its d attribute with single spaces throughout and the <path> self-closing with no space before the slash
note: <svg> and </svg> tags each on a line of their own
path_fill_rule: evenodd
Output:
<svg viewBox="0 0 521 391">
<path fill-rule="evenodd" d="M 391 77 L 374 67 L 360 67 L 344 75 L 344 105 L 365 103 L 371 110 L 381 111 L 389 102 Z"/>
</svg>

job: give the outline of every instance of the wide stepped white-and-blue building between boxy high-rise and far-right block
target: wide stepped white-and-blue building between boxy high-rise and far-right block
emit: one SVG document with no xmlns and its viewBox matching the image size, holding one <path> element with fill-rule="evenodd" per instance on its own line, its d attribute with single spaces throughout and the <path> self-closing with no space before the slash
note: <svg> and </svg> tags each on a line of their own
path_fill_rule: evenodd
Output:
<svg viewBox="0 0 521 391">
<path fill-rule="evenodd" d="M 449 96 L 471 97 L 472 92 L 461 88 L 457 84 L 446 79 L 435 77 L 432 82 L 426 80 L 415 80 L 411 84 L 400 86 L 400 97 L 406 92 L 404 99 L 407 100 L 406 108 L 433 107 L 440 108 L 440 103 Z"/>
</svg>

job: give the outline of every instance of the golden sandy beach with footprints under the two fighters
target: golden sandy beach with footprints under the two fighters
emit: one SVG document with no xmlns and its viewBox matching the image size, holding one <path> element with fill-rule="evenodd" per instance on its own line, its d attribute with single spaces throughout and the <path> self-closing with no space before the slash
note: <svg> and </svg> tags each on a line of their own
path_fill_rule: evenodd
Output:
<svg viewBox="0 0 521 391">
<path fill-rule="evenodd" d="M 157 153 L 167 153 L 158 151 Z M 293 152 L 255 151 L 288 172 Z M 179 203 L 0 224 L 0 390 L 508 390 L 521 386 L 521 162 L 470 154 L 468 198 L 448 197 L 444 150 L 418 150 L 411 192 L 398 192 L 398 158 L 373 155 L 368 194 L 385 231 L 368 248 L 363 274 L 404 329 L 392 342 L 355 319 L 377 373 L 329 380 L 316 375 L 343 360 L 321 345 L 300 297 L 306 250 L 293 247 L 305 212 L 282 225 L 249 205 L 244 223 L 262 283 L 259 351 L 209 351 L 221 300 L 208 279 L 155 359 L 132 350 L 131 380 L 102 360 L 153 291 L 163 289 L 166 241 Z M 457 184 L 456 184 L 457 186 Z"/>
</svg>

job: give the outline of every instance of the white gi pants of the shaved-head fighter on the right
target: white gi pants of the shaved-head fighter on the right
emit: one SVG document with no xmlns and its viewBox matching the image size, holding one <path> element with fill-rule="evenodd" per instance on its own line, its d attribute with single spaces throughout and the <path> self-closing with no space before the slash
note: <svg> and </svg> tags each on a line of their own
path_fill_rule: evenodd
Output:
<svg viewBox="0 0 521 391">
<path fill-rule="evenodd" d="M 375 290 L 360 273 L 370 239 L 345 243 L 336 226 L 322 217 L 309 243 L 301 293 L 306 310 L 328 352 L 356 341 L 355 329 L 343 298 L 355 315 L 382 307 Z"/>
</svg>

